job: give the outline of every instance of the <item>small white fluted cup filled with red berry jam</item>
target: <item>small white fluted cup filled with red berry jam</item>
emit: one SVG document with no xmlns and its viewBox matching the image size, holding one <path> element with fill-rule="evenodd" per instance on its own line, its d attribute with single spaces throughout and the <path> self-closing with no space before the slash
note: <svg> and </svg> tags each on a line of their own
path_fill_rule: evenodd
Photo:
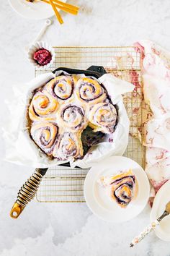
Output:
<svg viewBox="0 0 170 256">
<path fill-rule="evenodd" d="M 35 67 L 46 69 L 55 61 L 55 51 L 48 43 L 36 42 L 29 48 L 28 59 Z"/>
</svg>

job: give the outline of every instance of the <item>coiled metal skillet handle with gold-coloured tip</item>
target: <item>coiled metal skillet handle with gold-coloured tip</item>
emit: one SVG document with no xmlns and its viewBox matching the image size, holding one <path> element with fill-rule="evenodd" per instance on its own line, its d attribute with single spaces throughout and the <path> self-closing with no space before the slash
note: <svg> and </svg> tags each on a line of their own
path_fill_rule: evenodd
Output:
<svg viewBox="0 0 170 256">
<path fill-rule="evenodd" d="M 27 179 L 27 182 L 19 189 L 17 200 L 14 202 L 10 212 L 12 218 L 18 218 L 27 203 L 35 197 L 42 177 L 47 171 L 48 168 L 36 168 L 35 172 L 30 176 L 30 179 Z"/>
</svg>

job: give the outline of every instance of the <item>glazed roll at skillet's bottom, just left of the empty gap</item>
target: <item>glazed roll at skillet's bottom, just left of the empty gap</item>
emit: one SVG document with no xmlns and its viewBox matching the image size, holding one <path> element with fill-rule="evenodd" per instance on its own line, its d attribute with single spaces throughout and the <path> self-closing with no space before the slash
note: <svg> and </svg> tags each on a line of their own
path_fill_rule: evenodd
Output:
<svg viewBox="0 0 170 256">
<path fill-rule="evenodd" d="M 73 132 L 64 132 L 53 150 L 53 156 L 59 160 L 81 158 L 83 153 L 81 135 Z"/>
</svg>

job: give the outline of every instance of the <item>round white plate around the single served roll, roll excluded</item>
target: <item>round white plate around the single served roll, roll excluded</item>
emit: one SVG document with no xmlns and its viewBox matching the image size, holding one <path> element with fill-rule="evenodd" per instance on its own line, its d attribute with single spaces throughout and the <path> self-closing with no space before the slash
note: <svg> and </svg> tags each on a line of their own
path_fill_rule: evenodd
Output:
<svg viewBox="0 0 170 256">
<path fill-rule="evenodd" d="M 105 189 L 97 182 L 101 176 L 128 171 L 131 168 L 138 181 L 138 195 L 127 208 L 120 208 L 113 202 Z M 137 216 L 145 208 L 150 192 L 150 184 L 143 168 L 130 158 L 112 156 L 92 167 L 84 182 L 84 197 L 91 211 L 104 221 L 123 222 Z"/>
</svg>

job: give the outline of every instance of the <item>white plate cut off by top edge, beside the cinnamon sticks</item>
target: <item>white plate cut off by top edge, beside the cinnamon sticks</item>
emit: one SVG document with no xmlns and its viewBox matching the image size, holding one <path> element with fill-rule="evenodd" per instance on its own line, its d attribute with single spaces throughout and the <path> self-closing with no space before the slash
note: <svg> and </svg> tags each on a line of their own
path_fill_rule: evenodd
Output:
<svg viewBox="0 0 170 256">
<path fill-rule="evenodd" d="M 42 1 L 29 3 L 26 0 L 9 0 L 9 4 L 18 14 L 30 20 L 48 19 L 54 15 L 50 4 L 45 4 Z"/>
</svg>

